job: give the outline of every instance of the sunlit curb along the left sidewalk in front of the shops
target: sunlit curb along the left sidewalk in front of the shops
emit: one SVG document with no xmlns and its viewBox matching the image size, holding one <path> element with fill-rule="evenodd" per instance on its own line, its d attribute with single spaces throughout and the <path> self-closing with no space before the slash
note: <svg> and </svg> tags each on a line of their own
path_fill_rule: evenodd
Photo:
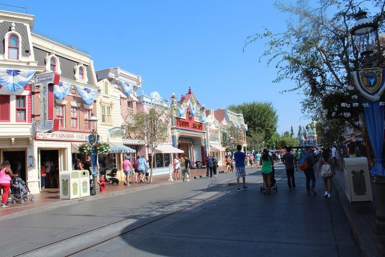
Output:
<svg viewBox="0 0 385 257">
<path fill-rule="evenodd" d="M 25 214 L 39 213 L 42 211 L 52 210 L 52 209 L 56 209 L 56 208 L 60 208 L 60 207 L 78 204 L 78 203 L 85 203 L 85 202 L 89 202 L 89 201 L 100 200 L 100 199 L 104 199 L 104 198 L 108 198 L 108 197 L 112 197 L 112 196 L 118 196 L 118 195 L 123 195 L 123 194 L 127 194 L 127 193 L 138 192 L 138 191 L 142 191 L 142 190 L 146 190 L 146 189 L 150 189 L 150 188 L 165 186 L 165 185 L 169 185 L 169 184 L 174 183 L 174 181 L 165 181 L 165 182 L 161 182 L 161 183 L 149 184 L 146 186 L 141 186 L 141 187 L 136 187 L 136 188 L 128 188 L 128 189 L 119 190 L 119 191 L 115 191 L 115 192 L 109 192 L 109 193 L 102 193 L 102 194 L 99 193 L 99 194 L 94 195 L 92 197 L 83 197 L 83 198 L 76 198 L 76 199 L 71 199 L 71 200 L 67 200 L 67 201 L 58 201 L 58 202 L 50 203 L 50 204 L 43 204 L 42 206 L 39 206 L 36 208 L 32 208 L 29 210 L 24 210 L 21 212 L 1 216 L 0 220 L 13 218 L 13 217 L 17 217 L 17 216 L 21 216 L 21 215 L 25 215 Z M 181 181 L 182 180 L 177 181 L 177 182 L 181 182 Z"/>
</svg>

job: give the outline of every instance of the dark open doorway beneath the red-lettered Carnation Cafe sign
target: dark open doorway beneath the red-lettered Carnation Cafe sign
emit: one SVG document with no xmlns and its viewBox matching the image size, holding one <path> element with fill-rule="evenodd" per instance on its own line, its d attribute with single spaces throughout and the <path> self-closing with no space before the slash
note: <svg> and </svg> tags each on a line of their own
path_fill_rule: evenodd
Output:
<svg viewBox="0 0 385 257">
<path fill-rule="evenodd" d="M 40 150 L 40 166 L 45 167 L 45 188 L 59 188 L 59 150 Z"/>
</svg>

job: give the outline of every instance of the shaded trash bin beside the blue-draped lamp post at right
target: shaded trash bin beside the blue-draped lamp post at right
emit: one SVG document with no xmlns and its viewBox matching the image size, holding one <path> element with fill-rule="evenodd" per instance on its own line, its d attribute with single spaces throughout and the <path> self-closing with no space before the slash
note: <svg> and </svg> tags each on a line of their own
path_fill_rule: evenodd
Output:
<svg viewBox="0 0 385 257">
<path fill-rule="evenodd" d="M 349 202 L 373 201 L 366 157 L 344 158 L 345 194 Z"/>
</svg>

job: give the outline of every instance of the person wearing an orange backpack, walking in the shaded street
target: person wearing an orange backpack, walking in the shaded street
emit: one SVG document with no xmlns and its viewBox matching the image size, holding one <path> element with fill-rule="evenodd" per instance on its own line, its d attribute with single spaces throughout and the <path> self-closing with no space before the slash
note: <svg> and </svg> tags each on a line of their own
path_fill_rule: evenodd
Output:
<svg viewBox="0 0 385 257">
<path fill-rule="evenodd" d="M 317 195 L 317 192 L 315 192 L 315 175 L 314 175 L 314 155 L 311 150 L 311 146 L 306 147 L 306 151 L 301 153 L 300 158 L 300 170 L 304 171 L 306 176 L 306 193 L 309 194 L 313 193 L 313 195 Z M 311 187 L 310 187 L 310 181 L 311 181 Z"/>
</svg>

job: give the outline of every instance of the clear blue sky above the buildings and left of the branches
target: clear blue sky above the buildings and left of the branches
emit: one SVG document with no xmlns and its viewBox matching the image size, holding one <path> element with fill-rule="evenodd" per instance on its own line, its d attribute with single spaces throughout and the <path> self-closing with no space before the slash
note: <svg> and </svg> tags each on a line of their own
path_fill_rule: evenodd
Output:
<svg viewBox="0 0 385 257">
<path fill-rule="evenodd" d="M 279 115 L 277 131 L 293 125 L 297 134 L 298 125 L 310 122 L 301 113 L 302 95 L 279 93 L 293 86 L 290 81 L 272 83 L 277 70 L 258 61 L 265 42 L 242 52 L 247 36 L 264 27 L 284 29 L 286 16 L 272 2 L 0 1 L 28 7 L 36 16 L 35 30 L 87 50 L 96 70 L 119 66 L 141 75 L 145 94 L 180 97 L 191 86 L 211 109 L 271 101 Z"/>
</svg>

